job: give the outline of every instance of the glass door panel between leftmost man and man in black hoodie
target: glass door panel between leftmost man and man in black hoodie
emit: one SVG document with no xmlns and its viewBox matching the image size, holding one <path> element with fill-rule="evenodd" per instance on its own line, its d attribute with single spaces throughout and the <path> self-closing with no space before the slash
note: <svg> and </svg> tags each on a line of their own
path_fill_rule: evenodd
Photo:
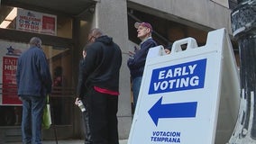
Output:
<svg viewBox="0 0 256 144">
<path fill-rule="evenodd" d="M 72 49 L 44 46 L 43 51 L 49 60 L 52 77 L 50 96 L 53 125 L 50 130 L 43 130 L 44 139 L 52 139 L 53 128 L 59 137 L 69 138 L 73 132 L 74 93 Z"/>
</svg>

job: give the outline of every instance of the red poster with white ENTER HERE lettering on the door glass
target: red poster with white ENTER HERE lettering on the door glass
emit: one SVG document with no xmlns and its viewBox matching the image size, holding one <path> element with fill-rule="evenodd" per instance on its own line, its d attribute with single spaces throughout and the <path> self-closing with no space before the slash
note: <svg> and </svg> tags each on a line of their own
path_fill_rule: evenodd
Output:
<svg viewBox="0 0 256 144">
<path fill-rule="evenodd" d="M 16 70 L 18 57 L 28 44 L 0 40 L 0 105 L 21 105 L 17 95 Z"/>
</svg>

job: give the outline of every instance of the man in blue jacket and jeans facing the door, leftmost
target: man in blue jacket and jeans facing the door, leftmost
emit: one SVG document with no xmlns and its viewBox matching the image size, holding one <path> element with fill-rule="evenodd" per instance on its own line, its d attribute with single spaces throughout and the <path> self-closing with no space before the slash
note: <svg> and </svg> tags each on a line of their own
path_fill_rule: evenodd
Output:
<svg viewBox="0 0 256 144">
<path fill-rule="evenodd" d="M 41 39 L 32 37 L 30 49 L 18 58 L 16 82 L 23 102 L 23 144 L 41 144 L 41 121 L 46 95 L 51 93 L 51 76 Z"/>
</svg>

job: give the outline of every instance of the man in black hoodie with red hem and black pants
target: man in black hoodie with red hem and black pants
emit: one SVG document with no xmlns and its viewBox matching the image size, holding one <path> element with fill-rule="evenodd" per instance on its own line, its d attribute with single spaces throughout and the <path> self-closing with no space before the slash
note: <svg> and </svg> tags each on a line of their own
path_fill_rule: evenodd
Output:
<svg viewBox="0 0 256 144">
<path fill-rule="evenodd" d="M 89 32 L 85 65 L 78 84 L 86 83 L 87 111 L 93 144 L 119 144 L 117 110 L 122 52 L 113 39 L 99 29 Z M 84 87 L 78 85 L 78 98 Z"/>
</svg>

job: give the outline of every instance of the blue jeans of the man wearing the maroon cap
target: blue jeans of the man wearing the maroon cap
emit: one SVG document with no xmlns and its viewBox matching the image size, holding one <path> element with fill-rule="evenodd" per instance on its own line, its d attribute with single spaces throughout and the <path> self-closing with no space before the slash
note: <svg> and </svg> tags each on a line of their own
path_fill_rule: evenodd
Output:
<svg viewBox="0 0 256 144">
<path fill-rule="evenodd" d="M 140 93 L 141 89 L 141 84 L 142 84 L 142 76 L 135 77 L 133 78 L 133 103 L 134 103 L 134 108 L 136 107 L 138 96 Z"/>
</svg>

